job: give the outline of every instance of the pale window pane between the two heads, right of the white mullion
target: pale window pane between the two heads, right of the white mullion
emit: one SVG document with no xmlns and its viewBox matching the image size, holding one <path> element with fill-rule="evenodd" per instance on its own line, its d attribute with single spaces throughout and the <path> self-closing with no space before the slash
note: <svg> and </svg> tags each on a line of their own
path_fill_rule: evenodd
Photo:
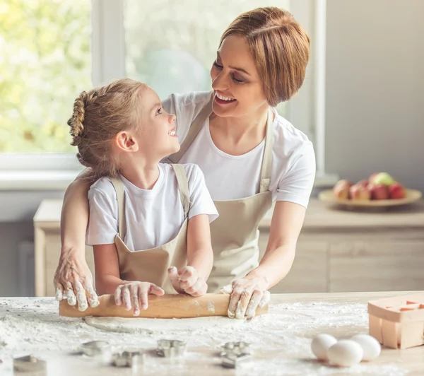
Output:
<svg viewBox="0 0 424 376">
<path fill-rule="evenodd" d="M 159 98 L 211 90 L 209 71 L 220 35 L 240 13 L 261 6 L 245 1 L 124 1 L 126 74 L 148 83 Z M 289 8 L 290 0 L 267 1 Z M 288 116 L 288 106 L 278 106 Z"/>
</svg>

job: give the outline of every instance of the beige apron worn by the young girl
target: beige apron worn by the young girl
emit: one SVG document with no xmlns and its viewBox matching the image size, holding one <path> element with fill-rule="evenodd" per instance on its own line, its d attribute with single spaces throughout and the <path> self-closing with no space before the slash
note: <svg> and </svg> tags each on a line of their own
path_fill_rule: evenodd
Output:
<svg viewBox="0 0 424 376">
<path fill-rule="evenodd" d="M 176 266 L 180 269 L 187 265 L 187 215 L 189 213 L 189 186 L 182 165 L 172 165 L 177 177 L 179 196 L 184 208 L 184 223 L 178 235 L 160 247 L 141 251 L 131 251 L 124 243 L 126 233 L 124 185 L 119 179 L 111 179 L 118 201 L 119 234 L 115 237 L 119 259 L 119 273 L 124 281 L 143 281 L 155 283 L 165 293 L 175 293 L 167 269 Z"/>
</svg>

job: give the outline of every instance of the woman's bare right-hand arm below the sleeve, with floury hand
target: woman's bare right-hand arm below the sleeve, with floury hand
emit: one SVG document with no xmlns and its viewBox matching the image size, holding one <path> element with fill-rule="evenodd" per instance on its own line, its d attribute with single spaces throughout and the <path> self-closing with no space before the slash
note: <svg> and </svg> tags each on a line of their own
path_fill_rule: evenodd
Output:
<svg viewBox="0 0 424 376">
<path fill-rule="evenodd" d="M 304 206 L 277 201 L 264 257 L 256 269 L 234 282 L 228 307 L 229 317 L 253 317 L 257 306 L 269 300 L 266 290 L 287 276 L 295 259 L 296 244 L 305 213 Z"/>
</svg>

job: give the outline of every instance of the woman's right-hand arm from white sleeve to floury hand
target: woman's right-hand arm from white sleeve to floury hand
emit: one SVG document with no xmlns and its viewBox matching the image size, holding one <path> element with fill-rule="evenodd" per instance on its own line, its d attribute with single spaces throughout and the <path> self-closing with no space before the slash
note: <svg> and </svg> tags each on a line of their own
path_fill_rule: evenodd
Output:
<svg viewBox="0 0 424 376">
<path fill-rule="evenodd" d="M 228 316 L 238 319 L 245 315 L 254 316 L 257 305 L 269 300 L 268 289 L 287 276 L 295 258 L 315 171 L 314 148 L 310 141 L 305 141 L 293 153 L 278 182 L 277 202 L 264 257 L 256 269 L 233 283 Z"/>
</svg>

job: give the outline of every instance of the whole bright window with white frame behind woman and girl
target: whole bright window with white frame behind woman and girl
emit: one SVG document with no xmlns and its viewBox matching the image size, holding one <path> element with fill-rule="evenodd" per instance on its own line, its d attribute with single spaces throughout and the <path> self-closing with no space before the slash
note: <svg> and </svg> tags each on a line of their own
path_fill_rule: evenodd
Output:
<svg viewBox="0 0 424 376">
<path fill-rule="evenodd" d="M 324 168 L 324 145 L 319 144 L 324 133 L 316 119 L 324 115 L 317 110 L 323 103 L 314 98 L 322 93 L 323 80 L 316 74 L 324 53 L 316 37 L 324 30 L 324 4 L 266 2 L 292 12 L 312 40 L 305 83 L 278 112 L 314 141 L 318 170 Z M 1 168 L 5 156 L 17 157 L 14 168 L 28 169 L 28 161 L 31 168 L 45 170 L 65 161 L 78 168 L 66 121 L 76 95 L 91 86 L 128 76 L 148 83 L 163 99 L 174 92 L 209 90 L 220 34 L 238 14 L 257 6 L 263 1 L 0 0 Z"/>
</svg>

